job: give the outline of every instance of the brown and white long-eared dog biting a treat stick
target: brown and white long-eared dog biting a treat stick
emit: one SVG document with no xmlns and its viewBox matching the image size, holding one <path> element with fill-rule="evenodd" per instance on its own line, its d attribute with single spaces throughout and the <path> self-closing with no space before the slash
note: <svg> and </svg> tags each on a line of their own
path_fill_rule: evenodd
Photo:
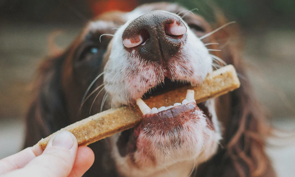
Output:
<svg viewBox="0 0 295 177">
<path fill-rule="evenodd" d="M 264 151 L 271 128 L 239 46 L 225 42 L 237 28 L 225 27 L 222 16 L 216 21 L 215 30 L 203 17 L 164 2 L 90 21 L 63 53 L 41 63 L 25 146 L 89 115 L 195 86 L 232 64 L 239 89 L 198 104 L 192 117 L 145 120 L 89 145 L 95 162 L 85 176 L 275 177 Z"/>
</svg>

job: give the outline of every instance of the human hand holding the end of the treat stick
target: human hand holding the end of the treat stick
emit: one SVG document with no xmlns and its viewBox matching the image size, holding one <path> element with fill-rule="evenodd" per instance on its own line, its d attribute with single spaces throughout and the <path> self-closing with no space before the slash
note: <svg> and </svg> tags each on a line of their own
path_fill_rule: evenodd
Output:
<svg viewBox="0 0 295 177">
<path fill-rule="evenodd" d="M 36 144 L 0 160 L 0 177 L 81 177 L 93 162 L 93 151 L 78 147 L 76 137 L 62 131 L 50 139 L 43 152 Z"/>
</svg>

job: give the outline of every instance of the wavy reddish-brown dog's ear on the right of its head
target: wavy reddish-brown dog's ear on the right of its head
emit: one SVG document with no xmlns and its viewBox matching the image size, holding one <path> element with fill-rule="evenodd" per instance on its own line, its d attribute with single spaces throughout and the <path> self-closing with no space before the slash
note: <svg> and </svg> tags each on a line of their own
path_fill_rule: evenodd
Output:
<svg viewBox="0 0 295 177">
<path fill-rule="evenodd" d="M 217 27 L 226 23 L 220 15 L 217 21 Z M 196 176 L 275 177 L 264 149 L 265 139 L 272 129 L 266 124 L 266 115 L 254 96 L 240 52 L 240 41 L 233 43 L 229 39 L 240 39 L 237 31 L 233 25 L 214 34 L 219 42 L 220 58 L 235 66 L 241 86 L 227 97 L 230 99 L 229 117 L 220 120 L 224 128 L 222 147 L 211 160 L 198 167 Z"/>
</svg>

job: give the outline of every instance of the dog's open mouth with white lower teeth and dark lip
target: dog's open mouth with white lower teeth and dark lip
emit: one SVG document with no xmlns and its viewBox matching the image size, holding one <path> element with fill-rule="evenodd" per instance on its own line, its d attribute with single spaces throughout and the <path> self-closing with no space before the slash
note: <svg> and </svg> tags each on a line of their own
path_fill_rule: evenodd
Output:
<svg viewBox="0 0 295 177">
<path fill-rule="evenodd" d="M 165 93 L 173 89 L 188 85 L 189 83 L 173 82 L 169 79 L 165 79 L 165 84 L 151 89 L 143 95 L 143 98 L 149 98 L 157 94 Z M 137 99 L 136 104 L 140 108 L 143 114 L 142 122 L 135 128 L 125 130 L 121 133 L 117 145 L 119 152 L 122 156 L 128 153 L 135 152 L 137 149 L 137 141 L 140 133 L 144 133 L 146 136 L 154 136 L 158 132 L 161 132 L 161 136 L 164 134 L 169 135 L 170 132 L 177 132 L 181 130 L 184 124 L 191 120 L 199 119 L 199 116 L 205 117 L 209 128 L 214 130 L 212 124 L 212 115 L 207 108 L 207 101 L 196 104 L 194 99 L 194 90 L 188 90 L 185 99 L 180 102 L 174 103 L 170 106 L 158 106 L 158 108 L 150 108 L 144 100 Z M 152 127 L 152 130 L 150 129 Z M 175 142 L 171 142 L 171 146 Z"/>
</svg>

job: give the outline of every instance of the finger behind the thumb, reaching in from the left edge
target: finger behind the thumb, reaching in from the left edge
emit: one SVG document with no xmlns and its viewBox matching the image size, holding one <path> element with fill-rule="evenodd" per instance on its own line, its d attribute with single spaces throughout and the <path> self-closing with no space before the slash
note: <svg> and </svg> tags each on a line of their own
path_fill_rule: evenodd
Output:
<svg viewBox="0 0 295 177">
<path fill-rule="evenodd" d="M 19 153 L 6 157 L 0 160 L 0 174 L 22 168 L 40 154 L 42 154 L 42 149 L 37 144 L 33 147 L 26 148 Z"/>
</svg>

